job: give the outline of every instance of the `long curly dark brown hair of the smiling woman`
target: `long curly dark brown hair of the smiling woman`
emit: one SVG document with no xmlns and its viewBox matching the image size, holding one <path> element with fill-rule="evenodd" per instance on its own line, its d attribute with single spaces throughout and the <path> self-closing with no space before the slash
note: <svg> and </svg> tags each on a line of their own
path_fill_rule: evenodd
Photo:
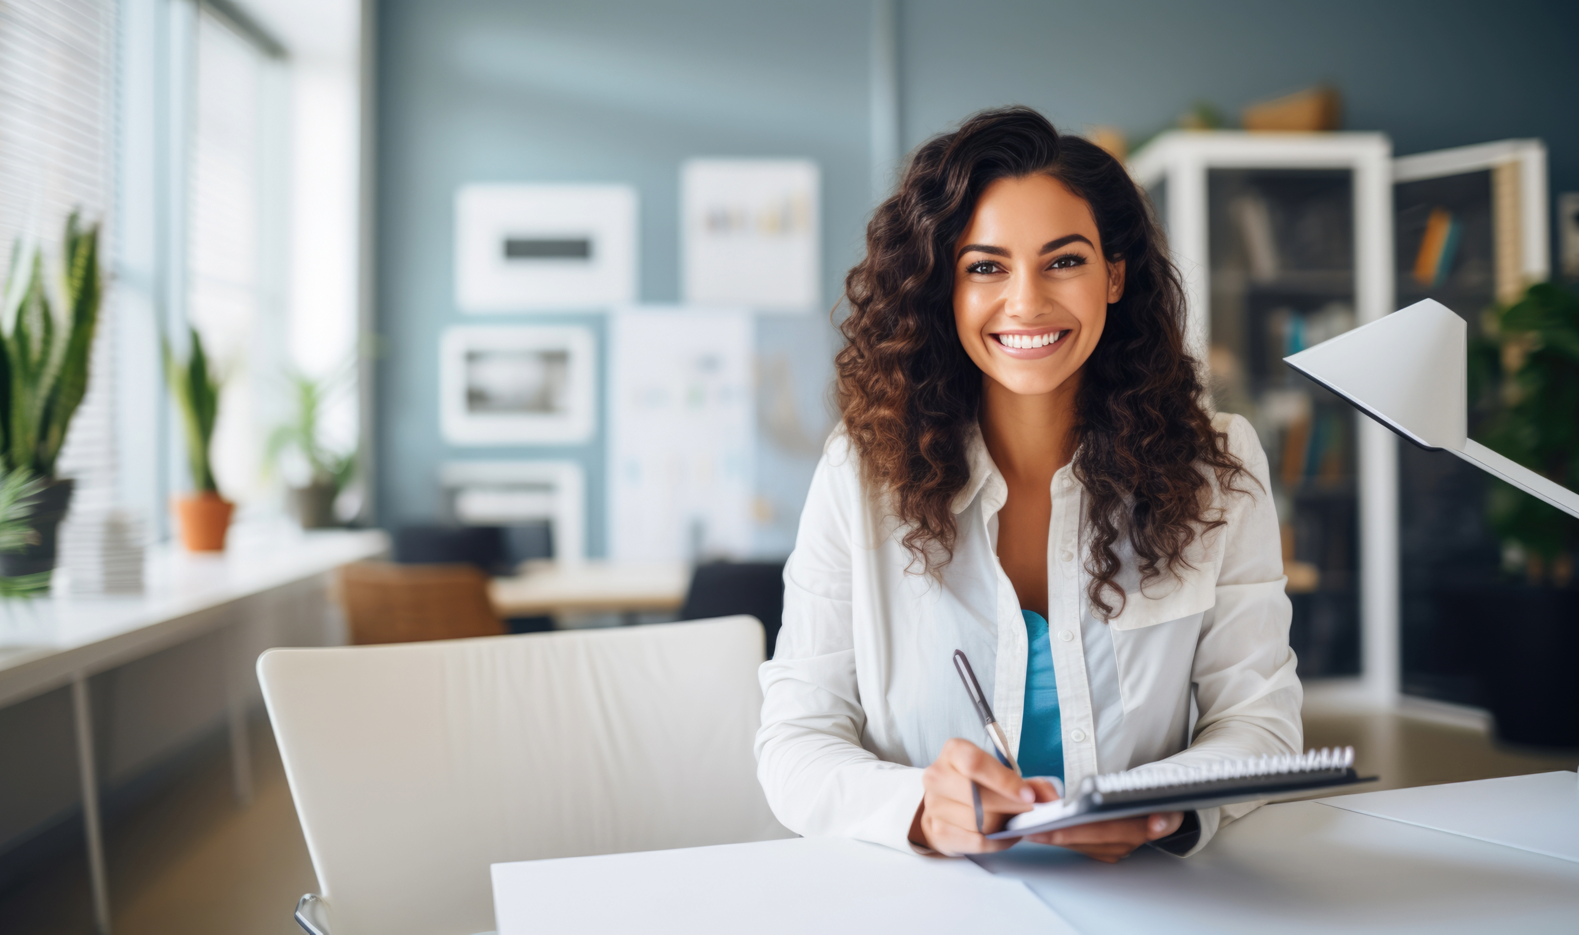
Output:
<svg viewBox="0 0 1579 935">
<path fill-rule="evenodd" d="M 1186 549 L 1224 525 L 1208 475 L 1233 489 L 1244 473 L 1202 404 L 1164 235 L 1116 159 L 1060 136 L 1028 107 L 984 110 L 922 143 L 867 225 L 865 259 L 845 278 L 838 408 L 868 490 L 884 494 L 906 525 L 902 541 L 921 568 L 940 572 L 954 557 L 949 503 L 970 479 L 966 446 L 982 399 L 982 372 L 954 322 L 954 246 L 990 183 L 1033 173 L 1083 199 L 1104 255 L 1126 260 L 1124 295 L 1082 367 L 1072 468 L 1086 489 L 1088 594 L 1112 618 L 1124 607 L 1115 546 L 1127 539 L 1142 587 L 1178 576 Z"/>
</svg>

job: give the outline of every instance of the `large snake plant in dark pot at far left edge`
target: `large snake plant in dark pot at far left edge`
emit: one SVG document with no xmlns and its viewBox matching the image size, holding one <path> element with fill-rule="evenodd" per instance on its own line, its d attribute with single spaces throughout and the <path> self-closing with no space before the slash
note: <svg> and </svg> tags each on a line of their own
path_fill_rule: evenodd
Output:
<svg viewBox="0 0 1579 935">
<path fill-rule="evenodd" d="M 55 476 L 55 460 L 88 389 L 103 282 L 98 224 L 84 227 L 73 211 L 62 246 L 54 265 L 36 243 L 17 241 L 0 304 L 0 468 L 39 482 L 36 536 L 0 552 L 6 577 L 55 568 L 55 531 L 71 506 L 73 481 Z"/>
</svg>

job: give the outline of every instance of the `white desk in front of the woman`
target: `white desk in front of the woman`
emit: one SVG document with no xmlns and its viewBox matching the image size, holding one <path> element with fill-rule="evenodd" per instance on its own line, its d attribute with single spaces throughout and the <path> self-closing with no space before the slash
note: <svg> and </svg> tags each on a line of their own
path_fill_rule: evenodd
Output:
<svg viewBox="0 0 1579 935">
<path fill-rule="evenodd" d="M 1579 817 L 1579 788 L 1565 801 L 1552 776 L 1574 784 L 1573 773 L 1495 780 L 1505 795 L 1541 795 L 1557 821 Z M 1453 821 L 1480 784 L 1432 787 L 1435 807 L 1410 804 L 1421 790 L 1367 793 L 1371 810 L 1415 809 L 1423 820 Z M 1339 796 L 1360 798 L 1360 796 Z M 1468 804 L 1473 810 L 1473 804 Z M 1429 814 L 1426 814 L 1429 812 Z M 1517 828 L 1503 829 L 1517 836 Z M 827 850 L 829 845 L 842 848 Z M 534 930 L 649 932 L 698 935 L 739 930 L 816 930 L 872 935 L 898 930 L 916 918 L 911 907 L 886 902 L 911 892 L 940 861 L 911 858 L 857 842 L 788 840 L 742 844 L 715 851 L 651 851 L 494 866 L 499 935 Z M 834 883 L 829 862 L 838 858 Z M 895 859 L 900 861 L 895 864 Z M 861 862 L 870 869 L 854 867 Z M 963 864 L 955 862 L 955 864 Z M 891 867 L 892 866 L 892 867 Z M 1224 828 L 1206 850 L 1178 859 L 1142 848 L 1120 864 L 1101 864 L 1063 848 L 1020 844 L 977 858 L 998 877 L 1023 881 L 1052 910 L 1039 932 L 1067 926 L 1085 935 L 1127 932 L 1304 933 L 1334 932 L 1574 932 L 1579 929 L 1579 861 L 1423 828 L 1328 801 L 1266 806 Z M 892 881 L 913 869 L 916 877 Z M 850 913 L 846 889 L 870 889 L 867 911 Z M 842 881 L 843 883 L 842 883 Z M 958 881 L 955 881 L 958 883 Z M 829 889 L 831 888 L 831 889 Z M 924 905 L 932 924 L 921 930 L 960 929 L 947 905 L 962 891 L 938 888 L 941 905 Z M 613 897 L 619 894 L 619 897 Z M 731 911 L 720 911 L 728 907 Z M 979 903 L 966 913 L 985 911 Z M 892 913 L 892 915 L 889 915 Z M 556 919 L 575 924 L 556 929 Z M 1061 919 L 1061 921 L 1060 921 Z M 981 919 L 977 918 L 977 922 Z M 1025 930 L 1023 927 L 1020 930 Z M 1067 929 L 1064 929 L 1067 930 Z"/>
</svg>

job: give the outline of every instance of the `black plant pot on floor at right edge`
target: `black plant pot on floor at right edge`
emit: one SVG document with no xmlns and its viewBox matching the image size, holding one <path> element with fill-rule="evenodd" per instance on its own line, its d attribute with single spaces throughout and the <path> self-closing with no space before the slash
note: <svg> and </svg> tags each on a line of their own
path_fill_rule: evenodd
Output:
<svg viewBox="0 0 1579 935">
<path fill-rule="evenodd" d="M 1579 590 L 1486 588 L 1483 686 L 1500 739 L 1579 747 Z"/>
</svg>

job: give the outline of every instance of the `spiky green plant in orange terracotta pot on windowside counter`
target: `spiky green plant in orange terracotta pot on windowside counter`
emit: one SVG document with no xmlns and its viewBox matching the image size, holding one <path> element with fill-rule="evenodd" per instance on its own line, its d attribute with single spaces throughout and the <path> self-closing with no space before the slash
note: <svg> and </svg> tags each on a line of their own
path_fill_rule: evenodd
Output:
<svg viewBox="0 0 1579 935">
<path fill-rule="evenodd" d="M 182 429 L 186 435 L 186 465 L 191 470 L 193 494 L 175 497 L 175 519 L 180 525 L 182 544 L 191 552 L 219 552 L 231 528 L 235 505 L 219 495 L 208 462 L 213 443 L 213 426 L 219 418 L 219 378 L 210 372 L 208 355 L 196 328 L 189 331 L 189 350 L 182 361 L 164 342 L 164 377 L 182 413 Z"/>
</svg>

